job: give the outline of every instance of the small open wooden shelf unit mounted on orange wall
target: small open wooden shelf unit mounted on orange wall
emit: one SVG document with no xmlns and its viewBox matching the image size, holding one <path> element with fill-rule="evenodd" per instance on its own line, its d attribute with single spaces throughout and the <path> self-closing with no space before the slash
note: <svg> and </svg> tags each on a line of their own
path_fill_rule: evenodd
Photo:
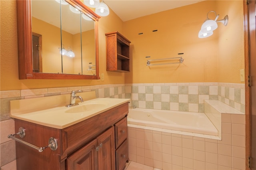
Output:
<svg viewBox="0 0 256 170">
<path fill-rule="evenodd" d="M 106 70 L 130 72 L 130 41 L 119 32 L 106 33 Z"/>
</svg>

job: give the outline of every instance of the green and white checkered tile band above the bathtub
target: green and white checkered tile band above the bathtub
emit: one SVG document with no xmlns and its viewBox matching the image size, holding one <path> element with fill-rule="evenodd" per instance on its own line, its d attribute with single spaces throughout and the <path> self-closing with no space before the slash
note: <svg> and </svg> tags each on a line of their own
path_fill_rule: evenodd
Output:
<svg viewBox="0 0 256 170">
<path fill-rule="evenodd" d="M 204 113 L 204 100 L 219 100 L 245 113 L 244 84 L 140 83 L 126 84 L 132 106 L 146 109 Z"/>
</svg>

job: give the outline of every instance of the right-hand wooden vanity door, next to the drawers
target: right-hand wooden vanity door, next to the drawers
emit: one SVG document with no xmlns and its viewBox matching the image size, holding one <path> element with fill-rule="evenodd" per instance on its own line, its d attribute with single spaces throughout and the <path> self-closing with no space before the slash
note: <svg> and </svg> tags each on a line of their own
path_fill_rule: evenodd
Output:
<svg viewBox="0 0 256 170">
<path fill-rule="evenodd" d="M 97 138 L 99 170 L 115 170 L 115 134 L 114 127 L 109 128 Z"/>
</svg>

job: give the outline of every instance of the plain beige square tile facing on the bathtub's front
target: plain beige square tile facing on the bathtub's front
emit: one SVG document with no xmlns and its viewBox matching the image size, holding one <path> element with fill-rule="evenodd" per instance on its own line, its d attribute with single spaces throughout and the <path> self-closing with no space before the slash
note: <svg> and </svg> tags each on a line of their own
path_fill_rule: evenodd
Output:
<svg viewBox="0 0 256 170">
<path fill-rule="evenodd" d="M 245 115 L 222 114 L 222 140 L 128 127 L 131 161 L 162 170 L 244 170 Z"/>
</svg>

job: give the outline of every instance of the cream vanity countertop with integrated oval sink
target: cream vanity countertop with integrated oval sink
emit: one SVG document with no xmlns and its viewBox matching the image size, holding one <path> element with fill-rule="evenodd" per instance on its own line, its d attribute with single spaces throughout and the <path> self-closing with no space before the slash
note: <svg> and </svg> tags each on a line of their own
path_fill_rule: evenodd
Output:
<svg viewBox="0 0 256 170">
<path fill-rule="evenodd" d="M 54 107 L 30 113 L 10 113 L 10 117 L 53 128 L 66 128 L 118 105 L 130 99 L 96 98 L 72 107 Z M 88 109 L 87 109 L 88 106 Z M 79 111 L 85 109 L 85 111 Z"/>
</svg>

